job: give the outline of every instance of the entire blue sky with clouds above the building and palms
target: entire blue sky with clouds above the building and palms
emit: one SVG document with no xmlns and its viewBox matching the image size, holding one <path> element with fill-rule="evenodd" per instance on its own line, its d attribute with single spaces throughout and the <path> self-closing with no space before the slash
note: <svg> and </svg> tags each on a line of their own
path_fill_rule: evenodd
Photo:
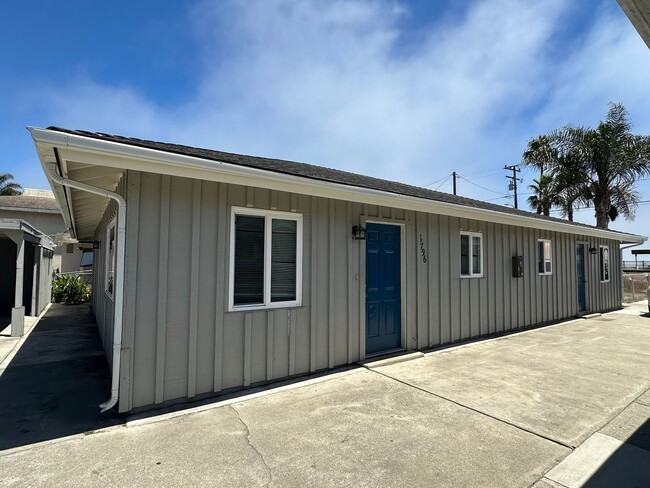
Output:
<svg viewBox="0 0 650 488">
<path fill-rule="evenodd" d="M 615 101 L 650 134 L 650 50 L 614 0 L 10 2 L 0 56 L 0 171 L 25 187 L 47 187 L 28 125 L 442 191 L 457 171 L 459 194 L 502 204 L 540 133 Z M 650 205 L 612 228 L 650 234 Z"/>
</svg>

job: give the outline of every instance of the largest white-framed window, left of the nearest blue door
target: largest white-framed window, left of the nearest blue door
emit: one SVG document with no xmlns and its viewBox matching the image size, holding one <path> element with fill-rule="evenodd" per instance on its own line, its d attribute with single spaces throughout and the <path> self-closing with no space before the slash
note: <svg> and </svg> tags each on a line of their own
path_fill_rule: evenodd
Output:
<svg viewBox="0 0 650 488">
<path fill-rule="evenodd" d="M 233 207 L 229 309 L 300 306 L 302 215 Z"/>
</svg>

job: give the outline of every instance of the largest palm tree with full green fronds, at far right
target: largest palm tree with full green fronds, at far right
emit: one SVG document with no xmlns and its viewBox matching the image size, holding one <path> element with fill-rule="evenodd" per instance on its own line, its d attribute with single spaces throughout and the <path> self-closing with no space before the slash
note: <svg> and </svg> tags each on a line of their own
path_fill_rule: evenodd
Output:
<svg viewBox="0 0 650 488">
<path fill-rule="evenodd" d="M 650 174 L 650 137 L 630 130 L 625 107 L 610 103 L 607 117 L 595 129 L 566 126 L 558 132 L 567 156 L 574 159 L 575 173 L 581 175 L 578 193 L 593 203 L 596 226 L 602 229 L 618 215 L 634 219 L 639 202 L 634 183 Z"/>
</svg>

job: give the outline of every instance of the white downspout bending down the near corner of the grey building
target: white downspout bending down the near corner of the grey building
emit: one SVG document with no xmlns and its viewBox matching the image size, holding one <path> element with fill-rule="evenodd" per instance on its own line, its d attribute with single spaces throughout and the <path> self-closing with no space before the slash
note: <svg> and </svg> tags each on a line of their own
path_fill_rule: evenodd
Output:
<svg viewBox="0 0 650 488">
<path fill-rule="evenodd" d="M 57 165 L 54 163 L 48 164 L 48 171 L 50 178 L 52 178 L 52 180 L 54 180 L 59 185 L 110 198 L 111 200 L 117 202 L 118 205 L 116 243 L 117 262 L 115 264 L 115 302 L 113 309 L 113 367 L 111 368 L 111 397 L 99 406 L 102 409 L 102 412 L 106 412 L 115 406 L 120 391 L 120 355 L 122 350 L 122 311 L 124 302 L 124 256 L 126 244 L 126 200 L 124 200 L 122 195 L 113 191 L 105 190 L 104 188 L 97 188 L 95 186 L 64 178 L 57 173 L 56 166 Z"/>
</svg>

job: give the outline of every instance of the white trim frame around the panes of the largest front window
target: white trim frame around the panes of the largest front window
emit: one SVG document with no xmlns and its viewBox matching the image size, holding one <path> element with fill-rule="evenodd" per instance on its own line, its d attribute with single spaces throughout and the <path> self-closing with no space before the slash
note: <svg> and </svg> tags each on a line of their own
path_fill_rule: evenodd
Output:
<svg viewBox="0 0 650 488">
<path fill-rule="evenodd" d="M 264 220 L 264 303 L 235 305 L 235 216 L 253 215 L 265 217 Z M 296 225 L 296 299 L 286 302 L 271 302 L 271 219 L 295 220 Z M 300 307 L 302 305 L 302 214 L 259 210 L 247 207 L 232 207 L 230 210 L 230 263 L 228 284 L 228 310 L 266 310 L 275 308 Z"/>
</svg>

